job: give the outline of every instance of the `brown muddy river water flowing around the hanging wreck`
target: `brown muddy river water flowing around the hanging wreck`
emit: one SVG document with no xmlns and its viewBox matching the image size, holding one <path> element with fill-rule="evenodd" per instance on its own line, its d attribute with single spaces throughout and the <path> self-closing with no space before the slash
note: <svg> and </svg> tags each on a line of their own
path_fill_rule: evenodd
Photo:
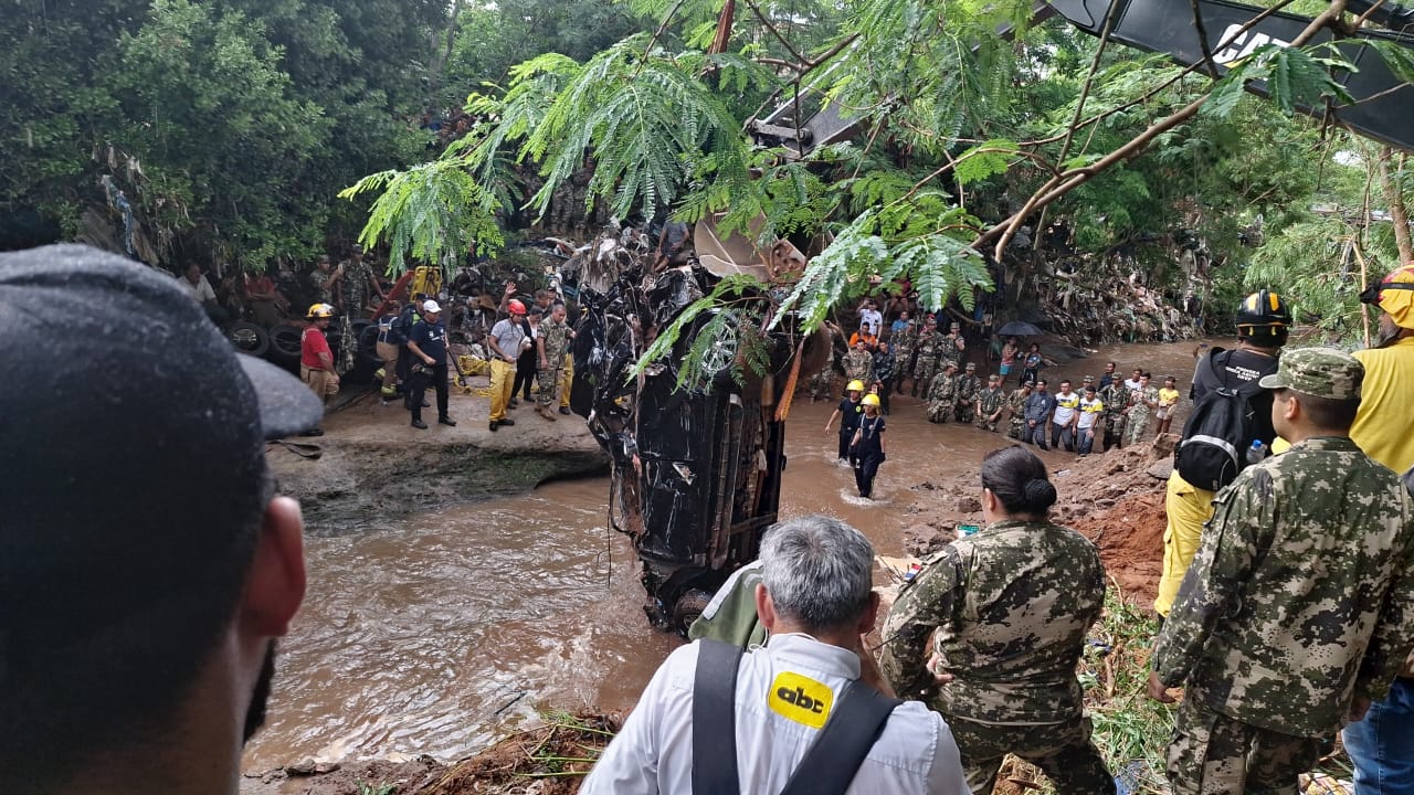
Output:
<svg viewBox="0 0 1414 795">
<path fill-rule="evenodd" d="M 1076 379 L 1107 359 L 1179 378 L 1193 342 L 1102 348 L 1046 371 Z M 1012 376 L 1015 378 L 1015 376 Z M 824 433 L 833 405 L 796 400 L 782 515 L 824 512 L 899 555 L 911 487 L 976 467 L 1003 436 L 933 426 L 916 400 L 895 399 L 888 463 L 875 499 L 855 495 Z M 1176 429 L 1175 429 L 1176 430 Z M 1049 453 L 1055 468 L 1075 455 Z M 638 562 L 607 529 L 605 478 L 547 484 L 492 502 L 455 505 L 362 526 L 310 528 L 310 591 L 280 669 L 266 729 L 243 767 L 298 760 L 454 760 L 486 747 L 537 707 L 632 704 L 680 642 L 642 613 Z"/>
</svg>

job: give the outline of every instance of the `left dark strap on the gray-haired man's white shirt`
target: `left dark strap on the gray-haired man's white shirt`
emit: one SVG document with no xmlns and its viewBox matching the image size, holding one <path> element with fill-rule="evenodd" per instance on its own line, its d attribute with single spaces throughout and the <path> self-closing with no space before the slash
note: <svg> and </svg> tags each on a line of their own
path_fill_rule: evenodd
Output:
<svg viewBox="0 0 1414 795">
<path fill-rule="evenodd" d="M 741 646 L 697 641 L 693 675 L 693 794 L 738 795 L 737 671 Z"/>
</svg>

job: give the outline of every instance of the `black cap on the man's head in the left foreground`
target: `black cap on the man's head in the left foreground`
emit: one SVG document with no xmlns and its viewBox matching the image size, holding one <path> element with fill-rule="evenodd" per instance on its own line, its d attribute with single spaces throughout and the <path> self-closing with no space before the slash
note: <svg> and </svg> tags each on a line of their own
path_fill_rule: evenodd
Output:
<svg viewBox="0 0 1414 795">
<path fill-rule="evenodd" d="M 255 508 L 266 440 L 322 414 L 175 279 L 88 246 L 0 255 L 0 597 L 65 566 L 75 584 L 129 567 L 163 525 L 215 543 L 204 521 Z"/>
</svg>

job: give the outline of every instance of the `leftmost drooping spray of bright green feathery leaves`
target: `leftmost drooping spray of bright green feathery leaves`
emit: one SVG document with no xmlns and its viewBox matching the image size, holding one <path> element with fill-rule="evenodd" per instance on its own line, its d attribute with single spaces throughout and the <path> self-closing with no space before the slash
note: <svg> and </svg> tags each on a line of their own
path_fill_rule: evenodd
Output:
<svg viewBox="0 0 1414 795">
<path fill-rule="evenodd" d="M 503 243 L 495 211 L 495 194 L 484 190 L 454 160 L 434 160 L 407 171 L 382 171 L 363 177 L 341 198 L 382 191 L 373 201 L 368 225 L 359 236 L 365 246 L 389 245 L 387 272 L 407 269 L 406 255 L 427 263 L 460 257 L 475 246 L 495 253 Z"/>
</svg>

